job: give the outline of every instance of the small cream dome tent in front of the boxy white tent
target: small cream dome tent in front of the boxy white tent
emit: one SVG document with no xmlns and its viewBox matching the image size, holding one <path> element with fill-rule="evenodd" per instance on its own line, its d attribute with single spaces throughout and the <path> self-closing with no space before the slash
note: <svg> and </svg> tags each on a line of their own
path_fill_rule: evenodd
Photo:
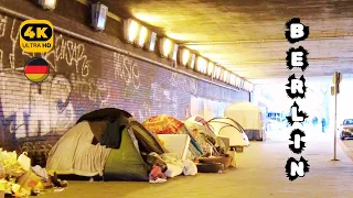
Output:
<svg viewBox="0 0 353 198">
<path fill-rule="evenodd" d="M 214 118 L 208 124 L 218 136 L 229 139 L 231 146 L 248 146 L 249 140 L 239 123 L 229 118 Z"/>
</svg>

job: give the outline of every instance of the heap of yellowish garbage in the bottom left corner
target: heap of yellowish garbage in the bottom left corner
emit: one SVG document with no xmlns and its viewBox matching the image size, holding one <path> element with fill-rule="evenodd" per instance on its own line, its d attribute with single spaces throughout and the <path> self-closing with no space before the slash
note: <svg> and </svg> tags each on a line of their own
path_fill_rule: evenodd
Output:
<svg viewBox="0 0 353 198">
<path fill-rule="evenodd" d="M 51 176 L 39 165 L 32 167 L 25 152 L 18 156 L 17 152 L 0 148 L 0 193 L 6 197 L 36 196 L 46 189 L 66 186 L 67 182 L 57 179 L 56 174 Z"/>
</svg>

